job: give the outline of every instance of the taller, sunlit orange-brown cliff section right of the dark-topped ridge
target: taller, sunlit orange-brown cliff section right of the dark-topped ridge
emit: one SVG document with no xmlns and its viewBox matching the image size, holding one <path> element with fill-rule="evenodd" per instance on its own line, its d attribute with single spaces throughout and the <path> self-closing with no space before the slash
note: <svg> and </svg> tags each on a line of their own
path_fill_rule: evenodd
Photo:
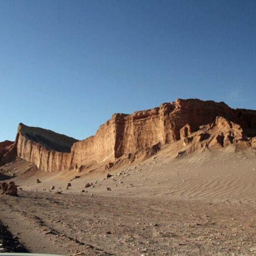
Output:
<svg viewBox="0 0 256 256">
<path fill-rule="evenodd" d="M 159 108 L 137 111 L 131 115 L 114 114 L 99 128 L 95 136 L 74 143 L 70 168 L 91 161 L 114 162 L 120 157 L 150 152 L 156 145 L 159 148 L 184 138 L 188 144 L 193 140 L 188 138 L 193 133 L 199 133 L 199 142 L 203 136 L 204 140 L 208 139 L 208 144 L 211 142 L 210 148 L 216 148 L 215 144 L 221 142 L 222 135 L 216 135 L 216 138 L 212 138 L 210 134 L 200 135 L 198 131 L 203 131 L 203 128 L 214 128 L 211 131 L 213 134 L 217 130 L 220 134 L 224 132 L 225 146 L 232 137 L 237 140 L 255 137 L 256 111 L 234 110 L 224 102 L 177 99 L 176 102 L 164 103 Z"/>
</svg>

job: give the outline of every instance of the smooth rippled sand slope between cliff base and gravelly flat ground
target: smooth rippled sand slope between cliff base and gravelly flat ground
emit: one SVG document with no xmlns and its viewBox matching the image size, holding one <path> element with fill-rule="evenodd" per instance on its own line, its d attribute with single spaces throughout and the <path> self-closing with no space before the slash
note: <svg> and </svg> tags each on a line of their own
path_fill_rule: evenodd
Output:
<svg viewBox="0 0 256 256">
<path fill-rule="evenodd" d="M 230 150 L 233 150 L 231 148 Z M 256 204 L 256 156 L 253 151 L 203 151 L 171 158 L 169 148 L 144 161 L 108 172 L 60 172 L 51 175 L 31 169 L 13 180 L 25 190 L 77 193 L 82 189 L 95 195 L 200 199 Z M 79 178 L 74 179 L 78 175 Z M 41 183 L 36 183 L 36 178 Z M 71 181 L 70 181 L 71 180 Z M 72 186 L 67 189 L 67 183 Z M 84 188 L 86 183 L 93 186 Z M 106 191 L 107 187 L 111 191 Z"/>
</svg>

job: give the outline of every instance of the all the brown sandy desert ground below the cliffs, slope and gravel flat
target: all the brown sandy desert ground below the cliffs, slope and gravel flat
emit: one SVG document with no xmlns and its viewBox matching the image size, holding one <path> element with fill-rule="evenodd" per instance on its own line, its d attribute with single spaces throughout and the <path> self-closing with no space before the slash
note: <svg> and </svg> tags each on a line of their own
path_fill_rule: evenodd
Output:
<svg viewBox="0 0 256 256">
<path fill-rule="evenodd" d="M 106 172 L 47 173 L 20 159 L 1 168 L 19 186 L 0 197 L 0 229 L 17 244 L 2 238 L 2 251 L 256 255 L 253 151 L 166 149 Z"/>
</svg>

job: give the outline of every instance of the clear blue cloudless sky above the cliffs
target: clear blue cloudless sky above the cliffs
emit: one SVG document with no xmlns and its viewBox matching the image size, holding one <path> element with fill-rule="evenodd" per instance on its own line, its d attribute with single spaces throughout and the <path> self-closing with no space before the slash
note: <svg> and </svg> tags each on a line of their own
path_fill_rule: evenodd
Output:
<svg viewBox="0 0 256 256">
<path fill-rule="evenodd" d="M 256 1 L 0 0 L 0 141 L 177 98 L 256 109 Z"/>
</svg>

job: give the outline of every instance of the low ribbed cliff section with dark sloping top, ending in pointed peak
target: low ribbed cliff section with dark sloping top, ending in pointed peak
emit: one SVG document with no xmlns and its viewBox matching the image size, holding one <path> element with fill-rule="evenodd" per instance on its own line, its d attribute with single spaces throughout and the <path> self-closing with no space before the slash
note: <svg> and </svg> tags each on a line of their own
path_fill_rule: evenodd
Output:
<svg viewBox="0 0 256 256">
<path fill-rule="evenodd" d="M 42 128 L 18 126 L 17 156 L 46 172 L 64 171 L 70 167 L 70 150 L 77 140 Z"/>
</svg>

